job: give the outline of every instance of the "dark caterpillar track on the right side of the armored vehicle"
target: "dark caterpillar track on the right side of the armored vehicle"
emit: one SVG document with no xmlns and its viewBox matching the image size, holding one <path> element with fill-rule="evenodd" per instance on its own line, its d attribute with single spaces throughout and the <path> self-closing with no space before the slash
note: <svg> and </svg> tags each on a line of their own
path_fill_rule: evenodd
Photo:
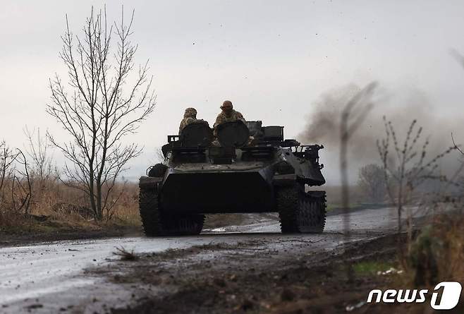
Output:
<svg viewBox="0 0 464 314">
<path fill-rule="evenodd" d="M 302 185 L 279 187 L 276 205 L 282 233 L 324 231 L 326 205 L 324 191 L 304 192 Z"/>
</svg>

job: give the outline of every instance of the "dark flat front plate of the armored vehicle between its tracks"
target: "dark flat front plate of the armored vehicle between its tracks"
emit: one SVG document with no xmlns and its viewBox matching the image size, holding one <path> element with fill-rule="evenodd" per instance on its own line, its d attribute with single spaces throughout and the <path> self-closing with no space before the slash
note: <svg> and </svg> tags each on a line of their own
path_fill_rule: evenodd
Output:
<svg viewBox="0 0 464 314">
<path fill-rule="evenodd" d="M 273 212 L 271 167 L 250 171 L 167 174 L 160 202 L 166 213 Z"/>
</svg>

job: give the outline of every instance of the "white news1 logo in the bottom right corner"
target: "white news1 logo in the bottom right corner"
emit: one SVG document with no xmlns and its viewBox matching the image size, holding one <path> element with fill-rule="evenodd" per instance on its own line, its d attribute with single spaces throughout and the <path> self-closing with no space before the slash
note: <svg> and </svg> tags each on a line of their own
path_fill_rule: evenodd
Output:
<svg viewBox="0 0 464 314">
<path fill-rule="evenodd" d="M 451 310 L 459 303 L 463 287 L 459 282 L 440 282 L 432 291 L 430 306 L 434 310 Z M 429 291 L 427 289 L 374 289 L 367 296 L 367 303 L 424 303 Z M 374 298 L 375 297 L 375 298 Z"/>
</svg>

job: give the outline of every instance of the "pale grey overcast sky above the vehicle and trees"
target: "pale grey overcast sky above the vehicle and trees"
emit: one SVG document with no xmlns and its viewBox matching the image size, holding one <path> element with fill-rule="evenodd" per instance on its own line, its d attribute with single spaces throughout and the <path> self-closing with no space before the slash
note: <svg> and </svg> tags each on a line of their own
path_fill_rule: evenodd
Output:
<svg viewBox="0 0 464 314">
<path fill-rule="evenodd" d="M 23 146 L 25 125 L 65 138 L 44 111 L 48 78 L 63 73 L 65 13 L 78 32 L 90 7 L 102 4 L 1 1 L 0 138 L 9 145 Z M 121 4 L 107 1 L 110 19 L 119 19 Z M 449 50 L 464 52 L 464 1 L 128 1 L 125 8 L 135 8 L 136 61 L 150 60 L 157 92 L 154 114 L 130 138 L 145 153 L 128 177 L 140 176 L 155 147 L 176 133 L 185 107 L 212 123 L 224 99 L 248 120 L 285 126 L 287 138 L 303 131 L 322 93 L 371 80 L 391 95 L 418 90 L 436 114 L 463 118 L 464 71 Z M 324 155 L 337 153 L 327 147 Z M 326 174 L 337 183 L 336 172 Z"/>
</svg>

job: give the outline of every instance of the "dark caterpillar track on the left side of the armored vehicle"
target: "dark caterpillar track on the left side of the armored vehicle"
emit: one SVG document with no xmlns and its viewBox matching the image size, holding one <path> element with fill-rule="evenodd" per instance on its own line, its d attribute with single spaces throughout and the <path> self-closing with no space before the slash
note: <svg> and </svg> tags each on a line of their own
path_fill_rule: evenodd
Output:
<svg viewBox="0 0 464 314">
<path fill-rule="evenodd" d="M 161 210 L 161 202 L 155 188 L 140 188 L 140 217 L 147 236 L 185 236 L 200 234 L 204 215 L 167 216 Z"/>
</svg>

